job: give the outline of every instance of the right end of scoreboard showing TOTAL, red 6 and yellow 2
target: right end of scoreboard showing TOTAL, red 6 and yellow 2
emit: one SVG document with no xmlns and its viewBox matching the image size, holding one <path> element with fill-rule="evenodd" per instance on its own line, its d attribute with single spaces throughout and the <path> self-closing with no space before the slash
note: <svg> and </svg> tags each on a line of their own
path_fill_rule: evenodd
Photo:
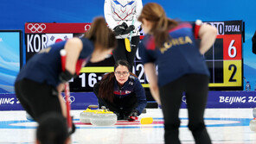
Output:
<svg viewBox="0 0 256 144">
<path fill-rule="evenodd" d="M 207 22 L 218 29 L 213 47 L 204 54 L 208 65 L 210 89 L 243 90 L 242 21 Z"/>
</svg>

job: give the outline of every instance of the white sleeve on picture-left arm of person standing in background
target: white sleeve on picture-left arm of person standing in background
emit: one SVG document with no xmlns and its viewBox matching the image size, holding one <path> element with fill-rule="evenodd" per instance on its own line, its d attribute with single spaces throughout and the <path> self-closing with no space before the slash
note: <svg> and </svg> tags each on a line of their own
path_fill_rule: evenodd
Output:
<svg viewBox="0 0 256 144">
<path fill-rule="evenodd" d="M 115 28 L 118 26 L 118 23 L 112 17 L 112 5 L 111 0 L 105 0 L 104 3 L 104 16 L 106 19 L 106 23 L 108 24 L 109 28 Z"/>
</svg>

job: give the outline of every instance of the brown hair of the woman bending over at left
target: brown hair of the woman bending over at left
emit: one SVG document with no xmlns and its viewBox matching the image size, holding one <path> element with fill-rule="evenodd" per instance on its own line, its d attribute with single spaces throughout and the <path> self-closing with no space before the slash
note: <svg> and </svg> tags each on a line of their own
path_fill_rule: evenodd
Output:
<svg viewBox="0 0 256 144">
<path fill-rule="evenodd" d="M 117 46 L 115 34 L 107 27 L 102 16 L 94 18 L 91 28 L 85 33 L 84 37 L 106 49 Z"/>
</svg>

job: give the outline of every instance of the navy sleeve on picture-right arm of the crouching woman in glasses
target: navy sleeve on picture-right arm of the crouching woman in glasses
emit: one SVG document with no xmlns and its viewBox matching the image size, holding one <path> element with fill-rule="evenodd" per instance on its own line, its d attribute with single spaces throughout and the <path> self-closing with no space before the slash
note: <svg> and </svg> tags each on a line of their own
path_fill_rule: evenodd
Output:
<svg viewBox="0 0 256 144">
<path fill-rule="evenodd" d="M 147 99 L 144 87 L 140 84 L 138 78 L 135 79 L 134 92 L 138 98 L 138 106 L 136 107 L 136 110 L 138 110 L 138 115 L 140 115 L 147 105 Z"/>
</svg>

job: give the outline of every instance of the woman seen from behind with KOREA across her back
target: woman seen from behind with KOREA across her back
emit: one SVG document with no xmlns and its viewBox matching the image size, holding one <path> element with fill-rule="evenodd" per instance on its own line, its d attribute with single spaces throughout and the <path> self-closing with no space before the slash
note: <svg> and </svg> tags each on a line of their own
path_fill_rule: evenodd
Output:
<svg viewBox="0 0 256 144">
<path fill-rule="evenodd" d="M 139 46 L 139 53 L 149 78 L 150 92 L 157 103 L 162 104 L 165 143 L 181 143 L 178 114 L 183 92 L 186 93 L 189 129 L 195 143 L 211 143 L 203 120 L 209 72 L 202 54 L 213 45 L 216 28 L 202 24 L 194 33 L 191 24 L 166 17 L 157 3 L 144 5 L 138 21 L 142 22 L 147 34 Z M 195 35 L 201 39 L 199 46 Z M 155 65 L 158 66 L 158 76 Z"/>
</svg>

